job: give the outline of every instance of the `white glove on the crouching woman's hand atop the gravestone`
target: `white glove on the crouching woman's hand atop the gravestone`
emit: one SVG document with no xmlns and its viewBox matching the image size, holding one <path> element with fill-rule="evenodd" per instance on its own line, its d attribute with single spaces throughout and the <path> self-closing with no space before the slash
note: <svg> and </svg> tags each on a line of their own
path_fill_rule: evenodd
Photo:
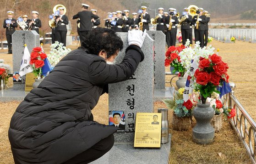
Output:
<svg viewBox="0 0 256 164">
<path fill-rule="evenodd" d="M 147 30 L 145 30 L 144 32 L 142 32 L 141 30 L 128 31 L 128 45 L 130 46 L 132 44 L 135 44 L 141 48 L 146 35 L 148 35 Z"/>
</svg>

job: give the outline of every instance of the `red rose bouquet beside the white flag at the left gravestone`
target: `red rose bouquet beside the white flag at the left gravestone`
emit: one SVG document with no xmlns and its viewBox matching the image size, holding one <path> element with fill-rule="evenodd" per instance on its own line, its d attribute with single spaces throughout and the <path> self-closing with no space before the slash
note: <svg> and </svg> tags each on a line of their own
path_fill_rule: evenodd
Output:
<svg viewBox="0 0 256 164">
<path fill-rule="evenodd" d="M 46 57 L 47 55 L 42 51 L 41 47 L 33 48 L 30 55 L 29 64 L 33 66 L 33 72 L 38 77 L 38 79 L 41 78 L 42 67 L 44 66 L 44 59 Z"/>
</svg>

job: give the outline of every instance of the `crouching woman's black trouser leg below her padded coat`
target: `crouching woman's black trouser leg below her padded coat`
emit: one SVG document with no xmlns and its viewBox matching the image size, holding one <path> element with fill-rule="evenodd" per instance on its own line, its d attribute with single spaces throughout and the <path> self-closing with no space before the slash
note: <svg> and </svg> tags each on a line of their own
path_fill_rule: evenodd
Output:
<svg viewBox="0 0 256 164">
<path fill-rule="evenodd" d="M 114 145 L 114 135 L 102 139 L 90 149 L 76 155 L 63 164 L 88 164 L 106 154 Z"/>
</svg>

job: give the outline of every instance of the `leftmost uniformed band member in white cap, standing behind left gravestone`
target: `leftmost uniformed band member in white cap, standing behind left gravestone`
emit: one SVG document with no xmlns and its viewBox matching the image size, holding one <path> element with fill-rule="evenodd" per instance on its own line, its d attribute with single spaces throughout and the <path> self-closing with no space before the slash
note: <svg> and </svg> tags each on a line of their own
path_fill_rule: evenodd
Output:
<svg viewBox="0 0 256 164">
<path fill-rule="evenodd" d="M 13 19 L 13 11 L 7 11 L 8 18 L 4 20 L 4 28 L 6 28 L 5 31 L 5 36 L 7 39 L 8 43 L 8 54 L 12 53 L 12 48 L 11 48 L 11 35 L 15 32 L 15 27 L 18 26 L 17 22 L 15 19 Z"/>
</svg>

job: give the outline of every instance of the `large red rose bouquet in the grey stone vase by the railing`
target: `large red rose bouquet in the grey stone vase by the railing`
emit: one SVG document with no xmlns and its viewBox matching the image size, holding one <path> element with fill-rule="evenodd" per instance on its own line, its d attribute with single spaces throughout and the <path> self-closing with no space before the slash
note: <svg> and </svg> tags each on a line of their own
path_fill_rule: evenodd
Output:
<svg viewBox="0 0 256 164">
<path fill-rule="evenodd" d="M 220 93 L 217 90 L 218 86 L 222 86 L 223 82 L 229 82 L 227 74 L 229 67 L 217 54 L 209 55 L 208 58 L 200 57 L 198 67 L 194 74 L 195 90 L 200 92 L 202 103 L 206 103 L 207 97 L 211 97 L 212 92 Z"/>
</svg>

